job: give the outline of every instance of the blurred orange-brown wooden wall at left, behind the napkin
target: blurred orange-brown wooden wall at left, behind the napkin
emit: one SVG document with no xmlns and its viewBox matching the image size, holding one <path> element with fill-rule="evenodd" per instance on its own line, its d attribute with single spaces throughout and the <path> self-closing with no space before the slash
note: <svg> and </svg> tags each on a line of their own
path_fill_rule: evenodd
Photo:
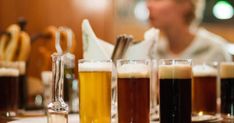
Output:
<svg viewBox="0 0 234 123">
<path fill-rule="evenodd" d="M 85 2 L 84 2 L 85 1 Z M 113 16 L 112 0 L 106 2 L 104 8 L 88 8 L 96 0 L 0 0 L 0 31 L 15 23 L 19 17 L 28 21 L 26 30 L 30 35 L 43 31 L 50 25 L 68 26 L 75 32 L 77 47 L 76 58 L 82 58 L 81 22 L 84 18 L 90 20 L 98 37 L 113 42 Z M 99 1 L 100 2 L 100 1 Z M 97 3 L 97 2 L 96 2 Z M 45 42 L 32 44 L 31 59 L 40 59 L 38 47 L 53 47 Z M 35 60 L 34 60 L 35 61 Z M 76 60 L 77 61 L 77 60 Z M 29 62 L 29 75 L 40 77 L 40 71 L 35 70 L 35 65 L 40 67 L 40 62 Z"/>
</svg>

